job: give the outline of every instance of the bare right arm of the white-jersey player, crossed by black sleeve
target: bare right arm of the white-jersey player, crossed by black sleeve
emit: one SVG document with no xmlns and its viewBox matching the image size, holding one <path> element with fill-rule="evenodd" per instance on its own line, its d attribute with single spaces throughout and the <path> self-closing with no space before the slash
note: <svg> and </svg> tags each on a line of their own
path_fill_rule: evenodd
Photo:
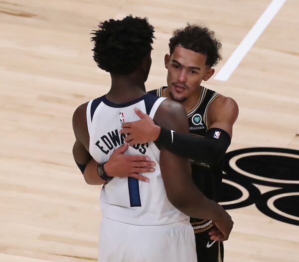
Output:
<svg viewBox="0 0 299 262">
<path fill-rule="evenodd" d="M 188 132 L 186 111 L 181 104 L 166 99 L 161 103 L 154 120 L 164 128 L 180 133 Z M 208 199 L 193 183 L 190 162 L 186 158 L 160 149 L 160 169 L 167 198 L 188 216 L 210 219 L 217 224 L 226 240 L 233 222 L 229 214 L 216 202 Z"/>
</svg>

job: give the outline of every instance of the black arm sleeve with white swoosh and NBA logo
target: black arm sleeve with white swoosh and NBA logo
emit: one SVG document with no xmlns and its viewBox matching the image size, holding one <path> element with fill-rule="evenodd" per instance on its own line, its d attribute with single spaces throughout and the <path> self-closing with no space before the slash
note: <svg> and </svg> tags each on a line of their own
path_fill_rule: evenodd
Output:
<svg viewBox="0 0 299 262">
<path fill-rule="evenodd" d="M 161 127 L 157 144 L 170 152 L 214 166 L 224 157 L 231 138 L 220 128 L 210 128 L 205 137 L 175 133 Z"/>
</svg>

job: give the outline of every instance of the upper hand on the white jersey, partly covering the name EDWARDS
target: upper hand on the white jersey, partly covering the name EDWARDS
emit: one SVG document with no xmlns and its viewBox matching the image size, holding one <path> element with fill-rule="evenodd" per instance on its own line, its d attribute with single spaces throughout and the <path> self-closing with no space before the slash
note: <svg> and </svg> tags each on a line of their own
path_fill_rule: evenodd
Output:
<svg viewBox="0 0 299 262">
<path fill-rule="evenodd" d="M 135 144 L 145 144 L 149 141 L 157 140 L 160 134 L 160 127 L 155 125 L 149 115 L 135 108 L 135 113 L 141 118 L 138 121 L 127 122 L 122 125 L 121 134 L 127 134 L 125 141 L 130 146 Z"/>
</svg>

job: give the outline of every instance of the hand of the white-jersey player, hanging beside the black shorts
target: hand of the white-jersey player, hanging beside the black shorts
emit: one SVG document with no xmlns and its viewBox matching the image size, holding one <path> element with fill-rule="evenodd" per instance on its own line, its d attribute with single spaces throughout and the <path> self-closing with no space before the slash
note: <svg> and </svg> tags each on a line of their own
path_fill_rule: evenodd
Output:
<svg viewBox="0 0 299 262">
<path fill-rule="evenodd" d="M 209 231 L 210 239 L 215 241 L 228 240 L 233 224 L 231 216 L 225 211 L 222 219 L 213 221 L 214 227 Z"/>
</svg>

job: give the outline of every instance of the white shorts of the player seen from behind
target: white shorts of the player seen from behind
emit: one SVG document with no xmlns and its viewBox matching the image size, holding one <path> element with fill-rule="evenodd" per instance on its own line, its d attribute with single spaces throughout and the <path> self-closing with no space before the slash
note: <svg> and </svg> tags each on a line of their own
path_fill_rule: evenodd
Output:
<svg viewBox="0 0 299 262">
<path fill-rule="evenodd" d="M 160 226 L 136 226 L 102 219 L 99 262 L 197 262 L 189 219 Z"/>
</svg>

